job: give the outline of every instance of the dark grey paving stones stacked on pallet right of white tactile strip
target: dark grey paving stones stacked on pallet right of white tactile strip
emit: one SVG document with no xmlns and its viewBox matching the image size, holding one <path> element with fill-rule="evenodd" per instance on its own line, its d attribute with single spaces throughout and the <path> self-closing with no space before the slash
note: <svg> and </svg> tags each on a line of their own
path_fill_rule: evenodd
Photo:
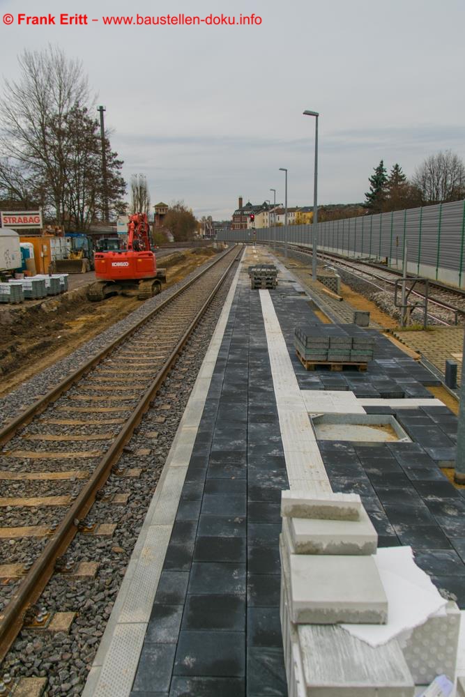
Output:
<svg viewBox="0 0 465 697">
<path fill-rule="evenodd" d="M 296 327 L 294 345 L 309 362 L 368 363 L 374 358 L 374 338 L 365 333 L 351 335 L 340 325 Z"/>
</svg>

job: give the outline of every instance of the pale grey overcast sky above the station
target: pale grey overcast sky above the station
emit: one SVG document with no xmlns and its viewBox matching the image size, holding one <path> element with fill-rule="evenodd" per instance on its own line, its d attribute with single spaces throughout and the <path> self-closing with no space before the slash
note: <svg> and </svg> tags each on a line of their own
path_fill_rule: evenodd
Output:
<svg viewBox="0 0 465 697">
<path fill-rule="evenodd" d="M 407 175 L 450 148 L 465 159 L 464 0 L 0 0 L 2 77 L 25 47 L 82 59 L 127 180 L 195 215 L 252 203 L 363 201 L 383 158 Z M 89 26 L 18 26 L 17 15 L 87 13 Z M 105 15 L 254 13 L 254 26 L 104 26 Z M 98 19 L 98 22 L 91 22 Z"/>
</svg>

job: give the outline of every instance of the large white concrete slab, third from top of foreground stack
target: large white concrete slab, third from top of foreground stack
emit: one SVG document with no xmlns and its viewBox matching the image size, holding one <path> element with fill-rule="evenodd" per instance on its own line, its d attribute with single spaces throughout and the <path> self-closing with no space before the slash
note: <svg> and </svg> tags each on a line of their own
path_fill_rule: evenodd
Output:
<svg viewBox="0 0 465 697">
<path fill-rule="evenodd" d="M 372 556 L 288 555 L 284 549 L 282 562 L 291 622 L 386 622 L 388 599 Z"/>
</svg>

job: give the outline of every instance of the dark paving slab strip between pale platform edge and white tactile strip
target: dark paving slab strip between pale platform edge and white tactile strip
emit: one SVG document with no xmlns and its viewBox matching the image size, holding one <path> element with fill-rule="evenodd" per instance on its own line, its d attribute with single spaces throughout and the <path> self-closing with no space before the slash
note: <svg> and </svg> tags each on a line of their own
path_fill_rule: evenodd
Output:
<svg viewBox="0 0 465 697">
<path fill-rule="evenodd" d="M 289 484 L 258 293 L 240 282 L 132 697 L 287 697 L 281 491 Z"/>
</svg>

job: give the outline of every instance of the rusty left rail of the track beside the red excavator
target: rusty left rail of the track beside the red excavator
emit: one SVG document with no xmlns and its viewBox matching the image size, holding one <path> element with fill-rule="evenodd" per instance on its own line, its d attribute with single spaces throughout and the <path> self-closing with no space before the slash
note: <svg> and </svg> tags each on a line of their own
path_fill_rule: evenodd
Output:
<svg viewBox="0 0 465 697">
<path fill-rule="evenodd" d="M 234 250 L 234 247 L 232 249 Z M 84 365 L 75 369 L 75 371 L 66 376 L 66 378 L 63 378 L 63 380 L 54 385 L 54 387 L 51 388 L 45 395 L 43 395 L 43 397 L 37 399 L 35 402 L 33 402 L 33 404 L 31 404 L 31 406 L 27 407 L 24 411 L 18 414 L 12 421 L 5 424 L 0 429 L 0 445 L 8 443 L 10 438 L 13 438 L 18 429 L 26 426 L 26 424 L 29 424 L 36 415 L 45 411 L 49 404 L 58 399 L 61 395 L 63 395 L 63 392 L 69 390 L 71 385 L 79 381 L 82 378 L 82 376 L 84 376 L 86 373 L 88 373 L 94 367 L 96 367 L 96 365 L 98 365 L 98 363 L 100 363 L 104 358 L 106 358 L 107 355 L 111 353 L 114 350 L 114 348 L 116 348 L 116 346 L 119 346 L 119 344 L 123 344 L 123 342 L 125 342 L 130 336 L 135 334 L 135 332 L 137 332 L 137 330 L 139 330 L 144 324 L 150 321 L 153 318 L 153 316 L 158 314 L 158 312 L 160 312 L 162 309 L 165 309 L 165 307 L 167 307 L 172 300 L 180 296 L 181 293 L 183 293 L 186 289 L 190 288 L 190 286 L 192 286 L 192 284 L 194 284 L 197 281 L 197 279 L 199 279 L 201 276 L 207 273 L 208 270 L 215 266 L 215 264 L 219 263 L 222 259 L 224 259 L 224 256 L 227 256 L 227 254 L 230 253 L 231 250 L 228 249 L 223 254 L 221 254 L 218 257 L 218 259 L 214 259 L 214 261 L 211 264 L 208 264 L 208 266 L 202 269 L 197 275 L 195 275 L 195 277 L 193 277 L 192 279 L 190 279 L 190 281 L 186 282 L 183 286 L 181 286 L 181 288 L 179 288 L 175 293 L 173 293 L 172 296 L 170 296 L 166 300 L 163 300 L 160 303 L 160 305 L 155 307 L 150 314 L 148 314 L 146 317 L 137 322 L 137 324 L 135 324 L 133 327 L 123 332 L 123 334 L 114 339 L 114 341 L 111 344 L 105 346 L 105 348 L 102 348 L 101 351 L 96 353 L 96 355 L 93 355 L 92 358 L 89 358 L 89 360 L 86 363 L 84 363 Z"/>
</svg>

